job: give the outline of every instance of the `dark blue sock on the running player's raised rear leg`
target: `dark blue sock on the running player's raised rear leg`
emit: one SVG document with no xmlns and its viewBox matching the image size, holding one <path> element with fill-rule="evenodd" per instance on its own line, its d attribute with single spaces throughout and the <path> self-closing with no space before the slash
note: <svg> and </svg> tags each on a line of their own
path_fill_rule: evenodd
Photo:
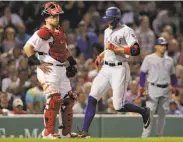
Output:
<svg viewBox="0 0 183 142">
<path fill-rule="evenodd" d="M 136 112 L 136 113 L 143 114 L 145 112 L 145 108 L 136 106 L 136 105 L 128 102 L 124 105 L 124 107 L 122 107 L 121 109 L 119 109 L 117 111 L 119 111 L 119 112 Z"/>
</svg>

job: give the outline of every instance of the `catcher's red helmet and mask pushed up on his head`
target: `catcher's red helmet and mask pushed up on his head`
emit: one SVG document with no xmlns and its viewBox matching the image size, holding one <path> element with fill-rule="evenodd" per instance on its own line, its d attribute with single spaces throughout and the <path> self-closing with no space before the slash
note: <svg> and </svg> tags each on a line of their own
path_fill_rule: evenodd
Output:
<svg viewBox="0 0 183 142">
<path fill-rule="evenodd" d="M 55 2 L 48 2 L 43 6 L 42 16 L 53 16 L 57 14 L 63 14 L 64 11 L 59 4 Z"/>
</svg>

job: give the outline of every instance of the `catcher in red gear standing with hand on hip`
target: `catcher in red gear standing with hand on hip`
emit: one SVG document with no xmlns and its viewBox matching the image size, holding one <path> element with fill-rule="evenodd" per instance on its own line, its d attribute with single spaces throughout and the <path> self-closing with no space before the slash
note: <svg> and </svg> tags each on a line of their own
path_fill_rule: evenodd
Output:
<svg viewBox="0 0 183 142">
<path fill-rule="evenodd" d="M 57 3 L 46 3 L 42 11 L 46 24 L 24 46 L 29 64 L 37 66 L 37 78 L 47 99 L 42 136 L 48 139 L 55 139 L 58 135 L 71 137 L 72 107 L 76 99 L 69 81 L 69 77 L 77 72 L 76 61 L 68 51 L 66 35 L 59 26 L 59 14 L 63 13 Z M 69 62 L 67 68 L 66 61 Z M 60 126 L 57 135 L 54 129 L 58 112 Z"/>
</svg>

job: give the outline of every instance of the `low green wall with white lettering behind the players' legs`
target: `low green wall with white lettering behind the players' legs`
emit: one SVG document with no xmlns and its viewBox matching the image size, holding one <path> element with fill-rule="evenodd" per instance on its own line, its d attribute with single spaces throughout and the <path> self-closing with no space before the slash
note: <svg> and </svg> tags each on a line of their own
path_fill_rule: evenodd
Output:
<svg viewBox="0 0 183 142">
<path fill-rule="evenodd" d="M 83 124 L 83 115 L 74 115 L 73 131 Z M 155 136 L 154 117 L 152 136 Z M 183 116 L 167 116 L 164 136 L 183 136 Z M 92 137 L 140 137 L 141 117 L 126 115 L 96 115 L 91 124 Z M 41 137 L 42 115 L 0 116 L 0 137 Z"/>
</svg>

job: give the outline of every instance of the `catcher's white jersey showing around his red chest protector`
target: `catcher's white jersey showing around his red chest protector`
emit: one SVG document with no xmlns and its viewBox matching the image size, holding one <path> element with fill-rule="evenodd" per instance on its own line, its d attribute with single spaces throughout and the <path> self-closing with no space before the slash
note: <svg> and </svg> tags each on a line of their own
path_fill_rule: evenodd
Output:
<svg viewBox="0 0 183 142">
<path fill-rule="evenodd" d="M 37 34 L 37 31 L 33 34 L 33 36 L 27 41 L 28 44 L 34 47 L 34 51 L 43 52 L 48 54 L 50 46 L 49 43 L 53 42 L 53 37 L 50 36 L 48 40 L 44 40 L 40 38 Z M 60 62 L 55 60 L 49 55 L 37 55 L 38 59 L 47 63 L 59 64 Z"/>
</svg>

